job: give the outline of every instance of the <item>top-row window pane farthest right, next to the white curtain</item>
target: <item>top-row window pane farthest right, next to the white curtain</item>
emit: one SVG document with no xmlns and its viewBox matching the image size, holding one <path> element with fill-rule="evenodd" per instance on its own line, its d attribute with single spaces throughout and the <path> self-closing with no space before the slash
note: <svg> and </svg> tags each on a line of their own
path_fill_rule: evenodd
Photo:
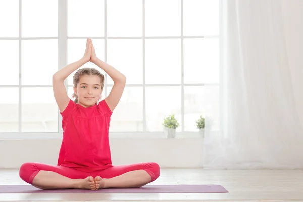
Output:
<svg viewBox="0 0 303 202">
<path fill-rule="evenodd" d="M 218 0 L 183 1 L 184 36 L 219 35 Z"/>
</svg>

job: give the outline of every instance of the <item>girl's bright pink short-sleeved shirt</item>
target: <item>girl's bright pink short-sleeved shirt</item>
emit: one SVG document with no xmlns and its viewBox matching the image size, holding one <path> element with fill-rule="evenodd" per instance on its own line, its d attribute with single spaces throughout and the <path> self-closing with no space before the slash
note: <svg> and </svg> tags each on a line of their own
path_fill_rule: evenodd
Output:
<svg viewBox="0 0 303 202">
<path fill-rule="evenodd" d="M 112 111 L 105 100 L 86 108 L 70 100 L 60 114 L 63 140 L 58 165 L 88 172 L 112 166 L 109 144 Z"/>
</svg>

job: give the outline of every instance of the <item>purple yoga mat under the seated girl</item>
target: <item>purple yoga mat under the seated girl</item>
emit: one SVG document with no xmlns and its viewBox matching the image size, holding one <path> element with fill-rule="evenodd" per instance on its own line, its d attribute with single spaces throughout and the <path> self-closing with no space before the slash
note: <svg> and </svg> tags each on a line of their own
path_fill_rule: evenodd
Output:
<svg viewBox="0 0 303 202">
<path fill-rule="evenodd" d="M 0 193 L 227 193 L 220 185 L 145 185 L 141 188 L 109 188 L 99 190 L 41 190 L 31 185 L 0 185 Z"/>
</svg>

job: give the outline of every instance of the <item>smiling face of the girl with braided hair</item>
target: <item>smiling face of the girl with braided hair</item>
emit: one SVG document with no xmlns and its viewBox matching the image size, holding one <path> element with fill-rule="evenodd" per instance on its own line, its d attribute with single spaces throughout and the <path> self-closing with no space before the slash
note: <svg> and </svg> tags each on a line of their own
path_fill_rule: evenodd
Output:
<svg viewBox="0 0 303 202">
<path fill-rule="evenodd" d="M 83 107 L 95 105 L 101 99 L 101 79 L 96 75 L 81 76 L 74 93 L 78 96 L 78 103 Z"/>
</svg>

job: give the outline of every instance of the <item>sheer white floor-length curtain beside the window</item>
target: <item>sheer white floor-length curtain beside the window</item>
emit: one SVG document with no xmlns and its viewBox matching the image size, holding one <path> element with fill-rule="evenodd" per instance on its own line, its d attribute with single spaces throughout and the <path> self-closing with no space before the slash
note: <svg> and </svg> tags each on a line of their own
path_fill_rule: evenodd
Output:
<svg viewBox="0 0 303 202">
<path fill-rule="evenodd" d="M 221 2 L 222 119 L 206 129 L 204 168 L 303 168 L 281 1 Z"/>
</svg>

